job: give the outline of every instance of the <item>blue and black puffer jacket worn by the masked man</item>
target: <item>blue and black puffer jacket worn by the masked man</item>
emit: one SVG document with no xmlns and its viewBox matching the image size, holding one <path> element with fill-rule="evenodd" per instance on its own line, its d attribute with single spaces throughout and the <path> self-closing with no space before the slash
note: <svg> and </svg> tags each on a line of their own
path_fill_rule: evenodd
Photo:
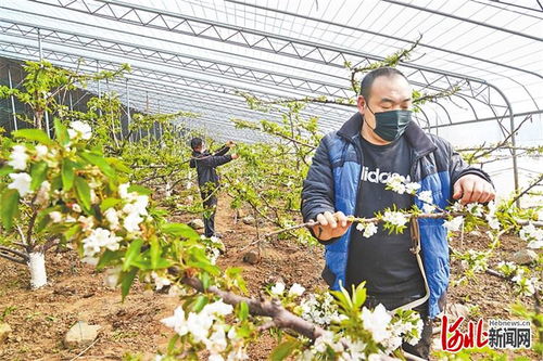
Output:
<svg viewBox="0 0 543 361">
<path fill-rule="evenodd" d="M 313 163 L 302 191 L 304 220 L 315 219 L 325 211 L 356 214 L 356 198 L 364 154 L 359 146 L 362 115 L 356 113 L 343 127 L 327 134 L 313 157 Z M 412 121 L 404 136 L 412 149 L 411 179 L 421 184 L 421 191 L 431 191 L 433 202 L 441 208 L 452 199 L 454 182 L 467 173 L 475 173 L 490 181 L 480 169 L 467 167 L 460 156 L 445 140 L 425 133 Z M 415 199 L 420 208 L 422 204 Z M 430 288 L 429 315 L 440 312 L 440 299 L 449 285 L 449 245 L 446 230 L 441 219 L 419 219 L 419 233 L 428 286 Z M 324 279 L 332 289 L 345 285 L 351 227 L 338 238 L 326 242 Z"/>
</svg>

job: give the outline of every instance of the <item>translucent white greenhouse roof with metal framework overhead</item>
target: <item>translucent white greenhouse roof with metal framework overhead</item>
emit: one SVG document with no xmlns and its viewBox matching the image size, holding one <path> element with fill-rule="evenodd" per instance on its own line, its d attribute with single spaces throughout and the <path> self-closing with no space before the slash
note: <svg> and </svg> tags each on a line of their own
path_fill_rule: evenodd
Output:
<svg viewBox="0 0 543 361">
<path fill-rule="evenodd" d="M 419 37 L 399 65 L 415 89 L 460 87 L 424 105 L 422 126 L 492 123 L 506 137 L 515 117 L 543 112 L 539 0 L 2 0 L 0 9 L 0 56 L 73 68 L 83 57 L 85 72 L 129 63 L 132 72 L 110 90 L 141 111 L 199 113 L 182 121 L 218 139 L 258 139 L 235 129 L 232 117 L 280 119 L 250 109 L 239 92 L 352 96 L 345 62 L 383 60 Z M 332 130 L 353 111 L 304 112 Z"/>
</svg>

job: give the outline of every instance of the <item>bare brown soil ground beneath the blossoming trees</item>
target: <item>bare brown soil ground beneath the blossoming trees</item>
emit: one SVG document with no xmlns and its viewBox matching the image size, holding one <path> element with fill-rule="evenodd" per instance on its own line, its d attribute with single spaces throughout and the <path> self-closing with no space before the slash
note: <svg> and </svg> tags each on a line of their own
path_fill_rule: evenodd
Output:
<svg viewBox="0 0 543 361">
<path fill-rule="evenodd" d="M 323 250 L 317 246 L 274 241 L 265 245 L 258 263 L 244 263 L 241 248 L 255 238 L 256 230 L 253 225 L 235 223 L 232 211 L 226 203 L 226 199 L 219 203 L 216 219 L 227 247 L 227 253 L 218 262 L 222 267 L 243 267 L 251 295 L 258 295 L 264 285 L 278 278 L 288 285 L 298 282 L 310 292 L 326 286 L 320 279 Z M 191 218 L 194 217 L 186 215 L 176 221 Z M 498 260 L 510 259 L 513 253 L 523 245 L 518 237 L 505 236 L 490 266 L 495 267 Z M 488 247 L 488 238 L 468 234 L 462 244 L 456 238 L 453 247 L 458 250 L 482 250 Z M 10 337 L 0 345 L 0 360 L 74 359 L 84 348 L 67 349 L 62 339 L 67 330 L 80 320 L 101 325 L 102 330 L 98 340 L 78 360 L 122 360 L 126 352 L 148 360 L 152 359 L 156 350 L 165 348 L 172 332 L 160 320 L 173 313 L 178 304 L 176 297 L 146 291 L 143 285 L 136 284 L 125 302 L 122 302 L 121 292 L 105 288 L 102 284 L 103 274 L 81 263 L 74 252 L 49 252 L 47 270 L 49 284 L 33 292 L 28 288 L 26 268 L 0 259 L 0 314 L 7 308 L 12 308 L 4 322 L 13 328 Z M 453 261 L 452 279 L 462 273 L 459 262 Z M 473 320 L 516 319 L 508 311 L 508 306 L 516 299 L 505 281 L 488 274 L 478 274 L 467 285 L 450 287 L 449 292 L 449 302 L 470 307 Z M 533 305 L 530 298 L 521 301 L 529 307 Z M 434 337 L 438 339 L 439 334 Z M 276 340 L 272 336 L 264 335 L 250 346 L 251 360 L 265 360 L 275 345 Z M 523 354 L 533 360 L 536 358 L 531 351 L 509 354 Z"/>
</svg>

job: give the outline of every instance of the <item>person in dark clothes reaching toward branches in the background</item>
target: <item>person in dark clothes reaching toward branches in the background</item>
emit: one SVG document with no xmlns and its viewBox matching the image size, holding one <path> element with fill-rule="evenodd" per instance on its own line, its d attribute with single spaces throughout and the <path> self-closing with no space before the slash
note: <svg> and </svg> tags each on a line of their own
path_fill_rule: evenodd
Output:
<svg viewBox="0 0 543 361">
<path fill-rule="evenodd" d="M 201 138 L 193 138 L 190 141 L 192 147 L 192 158 L 190 167 L 197 168 L 198 185 L 204 205 L 204 234 L 206 237 L 217 236 L 215 233 L 215 210 L 217 208 L 217 190 L 218 175 L 216 167 L 222 166 L 232 159 L 237 159 L 237 154 L 226 154 L 233 146 L 233 142 L 229 141 L 220 150 L 214 154 L 210 153 L 204 147 L 204 142 Z"/>
</svg>

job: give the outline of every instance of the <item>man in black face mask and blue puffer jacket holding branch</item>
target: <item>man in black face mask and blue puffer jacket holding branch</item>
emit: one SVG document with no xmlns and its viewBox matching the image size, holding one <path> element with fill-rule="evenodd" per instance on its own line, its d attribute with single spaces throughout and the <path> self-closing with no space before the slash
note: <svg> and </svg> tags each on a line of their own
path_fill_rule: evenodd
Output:
<svg viewBox="0 0 543 361">
<path fill-rule="evenodd" d="M 449 246 L 443 220 L 420 219 L 403 234 L 378 232 L 363 238 L 345 215 L 374 217 L 396 206 L 422 203 L 384 189 L 394 173 L 431 191 L 443 208 L 453 199 L 485 203 L 495 193 L 489 176 L 468 167 L 445 140 L 412 121 L 412 88 L 397 69 L 368 73 L 361 85 L 358 112 L 327 134 L 313 157 L 302 191 L 304 220 L 326 246 L 323 278 L 332 289 L 366 282 L 366 306 L 413 308 L 425 320 L 422 338 L 407 352 L 428 358 L 431 319 L 443 308 L 449 285 Z M 421 256 L 419 255 L 421 252 Z"/>
</svg>

